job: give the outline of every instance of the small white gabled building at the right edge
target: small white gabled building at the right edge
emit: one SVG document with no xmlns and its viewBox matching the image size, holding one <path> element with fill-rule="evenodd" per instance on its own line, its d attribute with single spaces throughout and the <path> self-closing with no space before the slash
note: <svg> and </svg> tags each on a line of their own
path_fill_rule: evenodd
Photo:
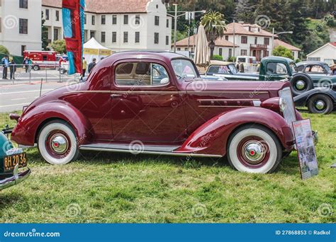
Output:
<svg viewBox="0 0 336 242">
<path fill-rule="evenodd" d="M 327 43 L 318 48 L 318 50 L 307 54 L 307 60 L 325 62 L 327 64 L 336 63 L 336 42 Z"/>
</svg>

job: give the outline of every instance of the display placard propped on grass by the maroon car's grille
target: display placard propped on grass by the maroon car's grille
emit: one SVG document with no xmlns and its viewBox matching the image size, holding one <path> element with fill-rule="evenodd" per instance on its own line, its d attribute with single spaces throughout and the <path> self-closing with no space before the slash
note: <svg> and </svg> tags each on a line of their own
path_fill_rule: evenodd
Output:
<svg viewBox="0 0 336 242">
<path fill-rule="evenodd" d="M 298 151 L 301 178 L 304 180 L 318 175 L 318 160 L 316 159 L 310 120 L 294 121 L 293 131 L 296 140 L 296 149 Z"/>
</svg>

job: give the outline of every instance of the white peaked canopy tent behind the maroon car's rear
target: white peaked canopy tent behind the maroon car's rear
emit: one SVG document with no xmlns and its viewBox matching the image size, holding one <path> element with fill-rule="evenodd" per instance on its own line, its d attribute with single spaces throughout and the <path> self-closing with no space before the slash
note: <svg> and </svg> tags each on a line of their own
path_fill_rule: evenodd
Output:
<svg viewBox="0 0 336 242">
<path fill-rule="evenodd" d="M 103 47 L 103 45 L 99 44 L 94 38 L 91 38 L 91 40 L 84 44 L 83 54 L 87 64 L 94 58 L 96 58 L 96 62 L 99 62 L 101 57 L 108 57 L 111 53 L 112 51 L 110 49 Z"/>
</svg>

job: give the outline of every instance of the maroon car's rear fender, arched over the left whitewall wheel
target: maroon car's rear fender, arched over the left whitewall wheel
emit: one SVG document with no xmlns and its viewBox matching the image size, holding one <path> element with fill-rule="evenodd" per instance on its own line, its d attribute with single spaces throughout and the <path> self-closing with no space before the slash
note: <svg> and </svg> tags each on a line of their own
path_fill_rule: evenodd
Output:
<svg viewBox="0 0 336 242">
<path fill-rule="evenodd" d="M 38 129 L 45 122 L 52 119 L 65 120 L 72 126 L 79 145 L 91 140 L 91 123 L 74 106 L 64 101 L 44 103 L 30 108 L 18 120 L 14 127 L 11 139 L 17 144 L 33 146 L 38 135 Z"/>
</svg>

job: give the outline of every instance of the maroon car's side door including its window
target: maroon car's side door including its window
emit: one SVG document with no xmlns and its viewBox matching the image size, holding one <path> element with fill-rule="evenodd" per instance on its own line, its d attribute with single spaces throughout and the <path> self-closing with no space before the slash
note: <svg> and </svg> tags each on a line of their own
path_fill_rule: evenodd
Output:
<svg viewBox="0 0 336 242">
<path fill-rule="evenodd" d="M 113 140 L 181 143 L 186 119 L 179 91 L 163 62 L 122 60 L 111 86 Z"/>
</svg>

